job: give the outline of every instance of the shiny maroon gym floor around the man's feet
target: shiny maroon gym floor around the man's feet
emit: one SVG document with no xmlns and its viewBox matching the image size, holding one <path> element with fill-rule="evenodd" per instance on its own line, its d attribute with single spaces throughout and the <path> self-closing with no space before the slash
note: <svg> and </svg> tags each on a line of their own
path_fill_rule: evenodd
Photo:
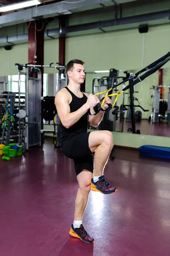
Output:
<svg viewBox="0 0 170 256">
<path fill-rule="evenodd" d="M 78 183 L 72 160 L 46 141 L 22 157 L 0 157 L 0 256 L 170 256 L 170 161 L 115 148 L 106 179 L 90 192 L 85 244 L 69 236 Z"/>
</svg>

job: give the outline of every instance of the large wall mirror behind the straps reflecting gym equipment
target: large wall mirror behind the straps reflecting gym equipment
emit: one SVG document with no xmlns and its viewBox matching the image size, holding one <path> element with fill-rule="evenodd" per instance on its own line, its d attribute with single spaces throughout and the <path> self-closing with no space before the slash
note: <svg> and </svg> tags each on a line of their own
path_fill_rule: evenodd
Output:
<svg viewBox="0 0 170 256">
<path fill-rule="evenodd" d="M 130 74 L 138 70 L 127 71 Z M 101 71 L 102 72 L 102 71 Z M 115 88 L 111 93 L 117 93 L 126 87 L 129 82 L 116 87 L 126 79 L 126 70 L 119 71 L 115 79 Z M 107 90 L 109 70 L 105 73 L 87 73 L 86 89 L 89 93 L 98 93 Z M 89 87 L 91 81 L 91 86 Z M 99 99 L 101 99 L 99 95 Z M 115 96 L 112 96 L 112 103 Z M 118 97 L 113 108 L 98 128 L 109 131 L 131 134 L 144 134 L 170 137 L 170 70 L 162 69 L 147 77 L 144 81 L 126 90 Z"/>
</svg>

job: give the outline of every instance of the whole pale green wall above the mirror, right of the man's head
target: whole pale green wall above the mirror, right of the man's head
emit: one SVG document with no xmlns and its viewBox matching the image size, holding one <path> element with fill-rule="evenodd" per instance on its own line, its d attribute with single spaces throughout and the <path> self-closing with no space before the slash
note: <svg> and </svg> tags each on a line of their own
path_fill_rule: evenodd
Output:
<svg viewBox="0 0 170 256">
<path fill-rule="evenodd" d="M 138 70 L 170 50 L 169 25 L 151 26 L 149 32 L 126 29 L 95 35 L 81 35 L 66 39 L 66 62 L 80 58 L 86 71 Z M 143 47 L 144 44 L 144 47 Z M 144 51 L 143 51 L 144 49 Z M 170 68 L 168 62 L 164 68 Z"/>
</svg>

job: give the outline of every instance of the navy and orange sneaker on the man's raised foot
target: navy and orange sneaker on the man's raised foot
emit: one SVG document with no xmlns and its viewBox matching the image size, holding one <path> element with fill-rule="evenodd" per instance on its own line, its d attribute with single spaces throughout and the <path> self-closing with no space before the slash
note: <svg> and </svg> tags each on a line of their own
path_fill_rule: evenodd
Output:
<svg viewBox="0 0 170 256">
<path fill-rule="evenodd" d="M 91 190 L 101 192 L 102 194 L 112 194 L 118 191 L 118 189 L 105 180 L 104 175 L 100 176 L 97 182 L 92 179 Z"/>
</svg>

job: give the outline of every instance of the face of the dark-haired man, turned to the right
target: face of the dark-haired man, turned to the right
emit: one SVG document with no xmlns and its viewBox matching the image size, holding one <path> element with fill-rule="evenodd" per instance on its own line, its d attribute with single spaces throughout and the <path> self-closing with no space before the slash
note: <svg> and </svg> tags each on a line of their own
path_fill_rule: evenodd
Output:
<svg viewBox="0 0 170 256">
<path fill-rule="evenodd" d="M 68 71 L 69 79 L 77 84 L 83 84 L 85 79 L 84 66 L 81 64 L 74 64 L 72 71 Z"/>
</svg>

